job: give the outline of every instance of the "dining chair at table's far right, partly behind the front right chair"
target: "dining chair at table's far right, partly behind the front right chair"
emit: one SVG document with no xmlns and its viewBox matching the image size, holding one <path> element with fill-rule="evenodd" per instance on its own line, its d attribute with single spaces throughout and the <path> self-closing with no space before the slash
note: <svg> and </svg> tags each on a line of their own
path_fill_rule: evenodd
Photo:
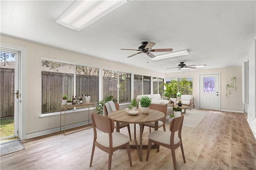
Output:
<svg viewBox="0 0 256 170">
<path fill-rule="evenodd" d="M 163 127 L 164 131 L 166 131 L 165 130 L 165 121 L 166 121 L 167 106 L 166 105 L 151 104 L 149 106 L 149 109 L 161 111 L 162 113 L 164 113 L 164 115 L 165 115 L 164 118 L 162 120 L 158 121 L 158 128 Z M 155 123 L 154 122 L 145 123 L 142 126 L 143 126 L 142 129 L 144 129 L 145 126 L 149 127 L 149 132 L 151 133 L 151 128 L 155 128 Z"/>
</svg>

